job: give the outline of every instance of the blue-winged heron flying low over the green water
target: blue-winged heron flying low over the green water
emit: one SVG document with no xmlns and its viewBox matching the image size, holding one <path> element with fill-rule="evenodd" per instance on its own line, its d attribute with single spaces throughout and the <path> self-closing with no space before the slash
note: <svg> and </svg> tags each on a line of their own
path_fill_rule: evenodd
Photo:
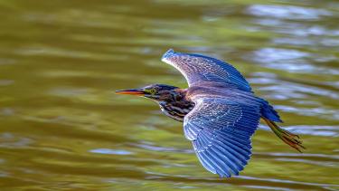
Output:
<svg viewBox="0 0 339 191">
<path fill-rule="evenodd" d="M 151 84 L 120 90 L 155 100 L 166 116 L 184 122 L 184 137 L 192 141 L 202 164 L 220 177 L 239 176 L 251 157 L 251 137 L 263 119 L 282 141 L 297 151 L 301 138 L 278 127 L 283 122 L 268 100 L 254 94 L 250 83 L 228 62 L 196 54 L 168 50 L 162 62 L 184 75 L 188 88 Z"/>
</svg>

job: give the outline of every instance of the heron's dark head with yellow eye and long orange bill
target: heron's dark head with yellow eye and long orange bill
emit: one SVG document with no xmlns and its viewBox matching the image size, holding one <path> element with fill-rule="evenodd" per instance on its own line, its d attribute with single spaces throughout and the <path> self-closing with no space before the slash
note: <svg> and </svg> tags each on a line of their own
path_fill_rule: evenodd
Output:
<svg viewBox="0 0 339 191">
<path fill-rule="evenodd" d="M 139 89 L 129 89 L 123 91 L 116 91 L 118 94 L 137 95 L 149 98 L 155 101 L 173 100 L 175 95 L 178 94 L 176 90 L 178 87 L 164 85 L 164 84 L 151 84 Z"/>
</svg>

